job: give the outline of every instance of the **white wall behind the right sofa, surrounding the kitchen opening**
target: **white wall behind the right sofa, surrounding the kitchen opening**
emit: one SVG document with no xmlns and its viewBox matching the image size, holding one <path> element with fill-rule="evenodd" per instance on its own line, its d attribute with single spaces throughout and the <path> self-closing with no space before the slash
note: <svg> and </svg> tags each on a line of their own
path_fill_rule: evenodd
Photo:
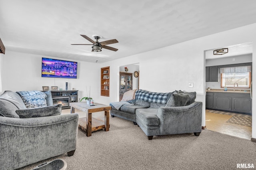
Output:
<svg viewBox="0 0 256 170">
<path fill-rule="evenodd" d="M 204 51 L 228 45 L 253 42 L 253 55 L 256 53 L 256 24 L 220 32 L 195 40 L 155 49 L 122 59 L 106 62 L 101 67 L 110 66 L 110 97 L 100 97 L 99 102 L 108 104 L 118 101 L 119 66 L 140 63 L 140 89 L 154 92 L 174 90 L 196 91 L 196 101 L 203 102 L 202 126 L 205 126 L 205 56 Z M 224 37 L 224 38 L 221 38 Z M 120 49 L 122 50 L 122 49 Z M 256 59 L 252 57 L 252 68 L 256 69 Z M 256 74 L 252 79 L 256 78 Z M 188 87 L 194 83 L 194 87 Z M 256 84 L 256 83 L 254 83 Z M 254 87 L 255 85 L 253 85 Z M 256 91 L 253 91 L 256 96 Z M 256 100 L 252 101 L 256 109 Z M 256 113 L 252 112 L 252 116 Z M 254 120 L 254 119 L 253 119 Z M 256 121 L 252 123 L 252 138 L 256 138 Z"/>
</svg>

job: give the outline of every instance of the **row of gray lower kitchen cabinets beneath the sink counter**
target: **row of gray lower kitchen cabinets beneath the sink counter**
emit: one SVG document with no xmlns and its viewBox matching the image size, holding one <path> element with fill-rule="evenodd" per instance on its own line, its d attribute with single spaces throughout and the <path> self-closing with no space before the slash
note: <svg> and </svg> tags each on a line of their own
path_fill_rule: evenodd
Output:
<svg viewBox="0 0 256 170">
<path fill-rule="evenodd" d="M 249 93 L 207 92 L 206 109 L 252 114 Z"/>
</svg>

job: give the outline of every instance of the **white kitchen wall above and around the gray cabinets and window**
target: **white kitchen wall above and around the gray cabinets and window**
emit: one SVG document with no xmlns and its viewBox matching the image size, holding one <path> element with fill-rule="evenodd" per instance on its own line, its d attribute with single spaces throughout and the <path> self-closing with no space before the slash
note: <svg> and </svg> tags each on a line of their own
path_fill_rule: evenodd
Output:
<svg viewBox="0 0 256 170">
<path fill-rule="evenodd" d="M 217 58 L 217 59 L 206 59 L 206 67 L 215 65 L 227 65 L 227 64 L 239 64 L 239 63 L 251 63 L 252 54 L 236 55 L 231 57 Z M 220 76 L 220 75 L 219 75 Z M 220 89 L 220 81 L 218 82 L 206 82 L 206 88 Z M 241 88 L 246 89 L 246 88 Z M 247 88 L 250 89 L 250 88 Z M 246 90 L 247 90 L 246 89 Z"/>
</svg>

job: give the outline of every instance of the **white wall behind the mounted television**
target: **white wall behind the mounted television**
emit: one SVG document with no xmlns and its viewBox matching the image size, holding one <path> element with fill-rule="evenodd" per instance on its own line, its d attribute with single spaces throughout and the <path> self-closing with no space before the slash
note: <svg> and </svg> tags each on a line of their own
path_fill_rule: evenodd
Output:
<svg viewBox="0 0 256 170">
<path fill-rule="evenodd" d="M 42 86 L 49 86 L 50 89 L 51 86 L 58 86 L 58 89 L 65 89 L 68 82 L 68 90 L 72 88 L 79 90 L 78 98 L 86 96 L 86 86 L 88 89 L 91 86 L 93 98 L 97 99 L 100 95 L 100 70 L 97 68 L 97 63 L 78 61 L 78 78 L 67 79 L 41 77 L 42 57 L 47 56 L 6 51 L 6 54 L 0 57 L 2 92 L 42 90 Z"/>
</svg>

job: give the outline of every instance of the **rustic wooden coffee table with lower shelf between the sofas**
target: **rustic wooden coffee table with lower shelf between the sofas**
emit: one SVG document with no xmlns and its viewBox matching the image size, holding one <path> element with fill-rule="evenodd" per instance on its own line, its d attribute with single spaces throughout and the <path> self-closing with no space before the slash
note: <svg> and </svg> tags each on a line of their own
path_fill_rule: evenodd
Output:
<svg viewBox="0 0 256 170">
<path fill-rule="evenodd" d="M 86 136 L 92 136 L 92 132 L 104 129 L 109 130 L 109 111 L 111 106 L 94 103 L 95 106 L 87 105 L 87 102 L 74 102 L 70 103 L 70 112 L 75 113 L 75 109 L 86 112 L 86 117 L 79 119 L 78 127 L 86 132 Z M 105 112 L 104 122 L 100 119 L 92 117 L 92 113 Z"/>
</svg>

